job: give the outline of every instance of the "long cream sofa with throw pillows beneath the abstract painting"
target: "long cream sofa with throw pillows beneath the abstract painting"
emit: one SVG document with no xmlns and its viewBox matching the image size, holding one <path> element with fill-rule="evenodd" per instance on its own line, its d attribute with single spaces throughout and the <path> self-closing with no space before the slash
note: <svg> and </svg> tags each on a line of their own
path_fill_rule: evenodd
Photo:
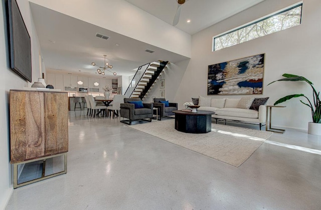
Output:
<svg viewBox="0 0 321 210">
<path fill-rule="evenodd" d="M 254 99 L 256 99 L 254 101 L 256 103 L 253 106 Z M 241 98 L 209 98 L 199 96 L 198 105 L 201 106 L 198 110 L 214 111 L 215 114 L 212 114 L 212 118 L 215 119 L 216 122 L 218 120 L 225 120 L 226 123 L 226 120 L 228 120 L 258 124 L 261 129 L 261 127 L 265 125 L 266 120 L 266 105 L 257 104 L 258 100 L 262 103 L 261 99 L 263 98 L 254 98 L 253 96 L 242 97 L 242 100 Z M 266 103 L 268 97 L 264 99 L 266 99 Z M 252 102 L 250 102 L 251 100 Z M 251 104 L 249 105 L 249 103 Z M 254 109 L 250 109 L 250 107 L 254 107 Z"/>
</svg>

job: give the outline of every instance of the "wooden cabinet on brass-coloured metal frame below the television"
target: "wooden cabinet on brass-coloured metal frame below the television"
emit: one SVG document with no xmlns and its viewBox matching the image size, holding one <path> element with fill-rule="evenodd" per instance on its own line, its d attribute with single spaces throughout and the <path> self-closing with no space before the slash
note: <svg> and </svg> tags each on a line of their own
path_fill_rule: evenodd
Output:
<svg viewBox="0 0 321 210">
<path fill-rule="evenodd" d="M 18 164 L 32 160 L 43 159 L 45 161 L 50 156 L 64 154 L 65 170 L 63 173 L 66 173 L 68 151 L 67 92 L 10 90 L 10 133 L 10 162 L 15 164 L 14 187 L 15 184 L 17 187 L 15 174 L 17 176 Z M 44 178 L 46 177 L 42 177 L 42 179 Z"/>
</svg>

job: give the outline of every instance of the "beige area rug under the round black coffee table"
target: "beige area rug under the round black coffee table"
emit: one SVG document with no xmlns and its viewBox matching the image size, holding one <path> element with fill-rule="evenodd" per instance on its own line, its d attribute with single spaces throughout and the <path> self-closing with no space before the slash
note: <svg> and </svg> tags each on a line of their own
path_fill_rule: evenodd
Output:
<svg viewBox="0 0 321 210">
<path fill-rule="evenodd" d="M 176 130 L 174 123 L 175 120 L 170 119 L 128 126 L 236 167 L 273 133 L 215 123 L 211 132 L 185 133 Z"/>
</svg>

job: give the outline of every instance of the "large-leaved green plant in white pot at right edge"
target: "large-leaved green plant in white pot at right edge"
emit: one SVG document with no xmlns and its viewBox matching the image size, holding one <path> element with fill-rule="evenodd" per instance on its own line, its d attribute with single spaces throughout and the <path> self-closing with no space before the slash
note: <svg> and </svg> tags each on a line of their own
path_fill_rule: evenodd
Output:
<svg viewBox="0 0 321 210">
<path fill-rule="evenodd" d="M 301 101 L 301 103 L 303 103 L 304 105 L 307 105 L 311 109 L 311 114 L 312 114 L 312 122 L 308 123 L 307 132 L 310 134 L 321 135 L 321 102 L 320 102 L 320 98 L 319 98 L 320 92 L 316 92 L 316 90 L 314 89 L 314 87 L 312 85 L 313 83 L 303 76 L 298 76 L 298 75 L 289 74 L 289 73 L 284 73 L 282 76 L 284 76 L 285 78 L 281 78 L 276 81 L 305 81 L 305 82 L 307 82 L 312 88 L 313 101 L 310 100 L 304 94 L 292 94 L 292 95 L 286 95 L 286 96 L 278 99 L 277 101 L 275 101 L 274 105 L 284 102 L 284 101 L 289 100 L 294 97 L 301 97 L 301 96 L 305 97 L 307 102 L 303 102 L 302 100 L 300 100 L 300 101 Z M 272 81 L 271 83 L 276 82 L 276 81 Z M 271 84 L 271 83 L 269 83 L 269 84 Z"/>
</svg>

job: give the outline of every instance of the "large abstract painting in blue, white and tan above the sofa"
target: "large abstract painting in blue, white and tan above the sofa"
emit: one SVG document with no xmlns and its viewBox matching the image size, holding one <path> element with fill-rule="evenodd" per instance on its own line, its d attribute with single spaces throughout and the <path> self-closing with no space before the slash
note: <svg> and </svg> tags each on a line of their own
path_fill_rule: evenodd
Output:
<svg viewBox="0 0 321 210">
<path fill-rule="evenodd" d="M 264 55 L 209 65 L 207 94 L 262 94 Z"/>
</svg>

